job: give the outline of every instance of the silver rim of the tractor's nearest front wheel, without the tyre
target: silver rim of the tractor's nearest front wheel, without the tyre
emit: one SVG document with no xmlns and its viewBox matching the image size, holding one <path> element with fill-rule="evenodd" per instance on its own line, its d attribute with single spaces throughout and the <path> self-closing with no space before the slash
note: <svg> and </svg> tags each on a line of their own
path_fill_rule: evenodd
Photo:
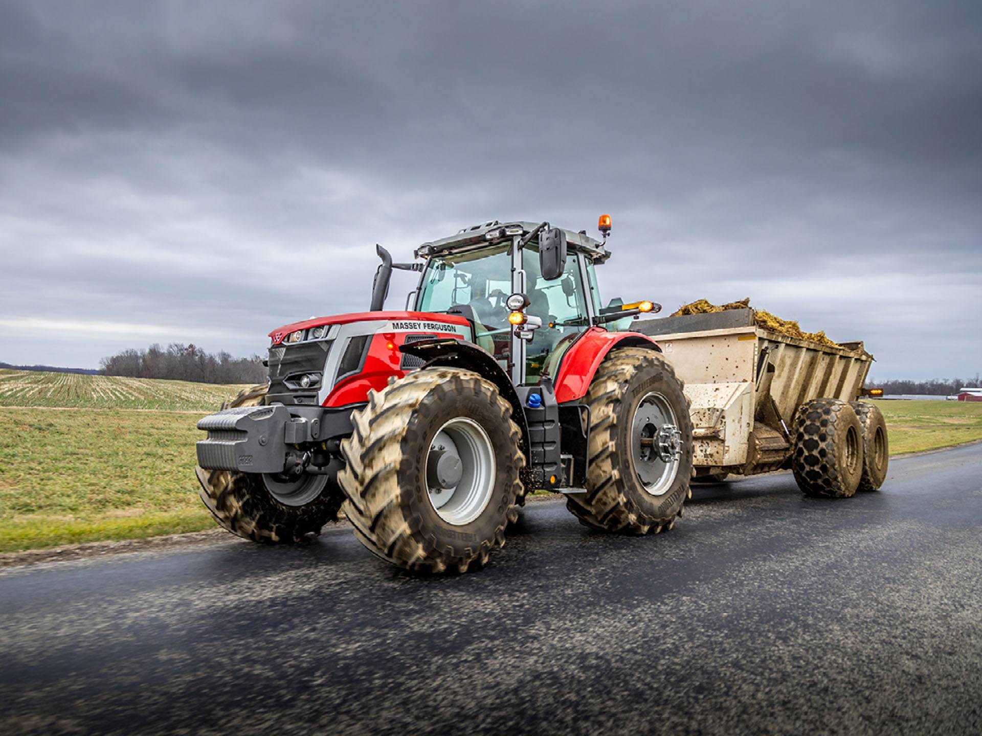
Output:
<svg viewBox="0 0 982 736">
<path fill-rule="evenodd" d="M 494 491 L 495 452 L 484 428 L 457 417 L 444 424 L 426 452 L 426 491 L 448 524 L 468 524 L 487 507 Z"/>
</svg>

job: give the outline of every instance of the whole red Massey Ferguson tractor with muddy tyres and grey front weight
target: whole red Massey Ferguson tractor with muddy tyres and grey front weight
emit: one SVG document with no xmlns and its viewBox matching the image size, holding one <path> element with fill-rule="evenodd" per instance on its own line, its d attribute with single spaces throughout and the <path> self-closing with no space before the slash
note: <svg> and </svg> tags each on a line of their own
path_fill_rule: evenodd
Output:
<svg viewBox="0 0 982 736">
<path fill-rule="evenodd" d="M 490 222 L 408 264 L 377 246 L 370 311 L 274 330 L 268 386 L 198 422 L 218 523 L 292 543 L 344 506 L 371 552 L 433 572 L 483 566 L 538 489 L 594 529 L 671 529 L 688 407 L 658 344 L 623 331 L 660 307 L 601 306 L 606 215 L 600 230 Z M 383 310 L 394 268 L 420 275 L 411 311 Z"/>
</svg>

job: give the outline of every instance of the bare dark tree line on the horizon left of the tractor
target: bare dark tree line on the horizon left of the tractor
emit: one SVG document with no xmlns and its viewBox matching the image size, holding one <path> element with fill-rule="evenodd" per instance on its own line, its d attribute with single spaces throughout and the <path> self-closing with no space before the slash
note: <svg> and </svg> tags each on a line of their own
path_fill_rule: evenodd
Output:
<svg viewBox="0 0 982 736">
<path fill-rule="evenodd" d="M 172 342 L 166 348 L 152 344 L 145 350 L 130 348 L 99 361 L 105 376 L 161 378 L 201 384 L 262 384 L 266 368 L 262 358 L 236 358 L 224 350 L 209 353 L 194 344 Z"/>
</svg>

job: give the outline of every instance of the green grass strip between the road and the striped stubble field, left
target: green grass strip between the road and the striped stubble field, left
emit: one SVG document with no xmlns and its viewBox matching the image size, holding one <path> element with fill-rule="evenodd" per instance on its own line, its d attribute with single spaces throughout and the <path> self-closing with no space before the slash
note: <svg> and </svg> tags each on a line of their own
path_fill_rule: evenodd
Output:
<svg viewBox="0 0 982 736">
<path fill-rule="evenodd" d="M 192 414 L 0 409 L 0 552 L 209 528 Z"/>
</svg>

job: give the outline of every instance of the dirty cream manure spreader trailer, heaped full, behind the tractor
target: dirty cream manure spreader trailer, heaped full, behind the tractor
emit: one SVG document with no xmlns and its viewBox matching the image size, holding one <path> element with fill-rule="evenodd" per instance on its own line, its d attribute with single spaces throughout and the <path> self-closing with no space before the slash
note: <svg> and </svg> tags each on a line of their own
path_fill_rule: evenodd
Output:
<svg viewBox="0 0 982 736">
<path fill-rule="evenodd" d="M 887 430 L 879 409 L 858 400 L 873 360 L 862 342 L 768 329 L 797 324 L 762 318 L 743 302 L 713 310 L 693 304 L 634 330 L 661 345 L 685 383 L 696 480 L 791 468 L 811 496 L 880 487 Z"/>
</svg>

